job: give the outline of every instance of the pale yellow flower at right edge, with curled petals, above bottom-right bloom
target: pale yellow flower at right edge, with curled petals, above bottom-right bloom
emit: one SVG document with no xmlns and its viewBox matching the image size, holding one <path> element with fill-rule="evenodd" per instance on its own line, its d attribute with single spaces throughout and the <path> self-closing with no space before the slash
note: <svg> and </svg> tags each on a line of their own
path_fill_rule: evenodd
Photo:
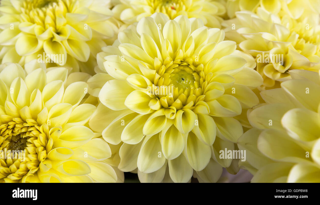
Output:
<svg viewBox="0 0 320 205">
<path fill-rule="evenodd" d="M 318 72 L 318 25 L 306 27 L 303 22 L 288 18 L 282 21 L 261 8 L 257 13 L 236 12 L 236 19 L 225 21 L 225 25 L 229 26 L 227 38 L 237 41 L 242 51 L 256 59 L 256 70 L 264 79 L 261 89 L 279 87 L 280 82 L 291 79 L 288 71 L 292 69 Z"/>
</svg>

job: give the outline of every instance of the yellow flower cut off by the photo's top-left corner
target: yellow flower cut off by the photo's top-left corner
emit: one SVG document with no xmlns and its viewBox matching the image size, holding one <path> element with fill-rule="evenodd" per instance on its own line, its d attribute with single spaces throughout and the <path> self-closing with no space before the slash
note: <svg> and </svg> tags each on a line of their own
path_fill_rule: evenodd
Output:
<svg viewBox="0 0 320 205">
<path fill-rule="evenodd" d="M 39 59 L 93 73 L 97 53 L 116 30 L 109 7 L 105 0 L 2 0 L 0 59 L 20 65 Z"/>
</svg>

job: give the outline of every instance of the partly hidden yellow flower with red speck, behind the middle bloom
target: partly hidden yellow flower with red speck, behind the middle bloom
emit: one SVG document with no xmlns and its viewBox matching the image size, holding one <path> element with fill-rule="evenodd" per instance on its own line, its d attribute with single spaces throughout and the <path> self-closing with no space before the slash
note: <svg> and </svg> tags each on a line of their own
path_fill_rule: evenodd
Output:
<svg viewBox="0 0 320 205">
<path fill-rule="evenodd" d="M 179 15 L 200 18 L 212 28 L 220 28 L 225 7 L 216 0 L 120 0 L 112 11 L 126 24 L 139 21 L 155 12 L 164 13 L 169 19 Z"/>
</svg>

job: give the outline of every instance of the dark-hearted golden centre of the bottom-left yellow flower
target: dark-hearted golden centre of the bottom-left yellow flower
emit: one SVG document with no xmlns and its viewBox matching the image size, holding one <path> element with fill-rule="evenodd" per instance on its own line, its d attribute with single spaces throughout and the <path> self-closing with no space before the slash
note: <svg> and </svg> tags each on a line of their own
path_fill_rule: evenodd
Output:
<svg viewBox="0 0 320 205">
<path fill-rule="evenodd" d="M 26 121 L 14 117 L 11 122 L 0 123 L 0 181 L 16 181 L 33 174 L 47 158 L 49 127 L 39 126 L 34 119 Z"/>
</svg>

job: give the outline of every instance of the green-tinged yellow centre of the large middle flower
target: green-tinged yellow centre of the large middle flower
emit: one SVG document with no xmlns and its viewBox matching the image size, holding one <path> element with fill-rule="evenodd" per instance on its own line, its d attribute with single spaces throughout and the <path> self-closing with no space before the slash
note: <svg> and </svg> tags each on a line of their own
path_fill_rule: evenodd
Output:
<svg viewBox="0 0 320 205">
<path fill-rule="evenodd" d="M 156 68 L 156 72 L 153 85 L 155 88 L 152 89 L 164 86 L 162 90 L 168 91 L 162 92 L 165 94 L 156 94 L 157 98 L 161 99 L 163 107 L 174 106 L 178 110 L 188 105 L 187 107 L 192 108 L 196 102 L 203 100 L 203 97 L 200 97 L 203 95 L 202 86 L 205 81 L 202 64 L 195 66 L 192 60 L 191 62 L 181 59 L 167 60 L 161 67 Z"/>
</svg>

